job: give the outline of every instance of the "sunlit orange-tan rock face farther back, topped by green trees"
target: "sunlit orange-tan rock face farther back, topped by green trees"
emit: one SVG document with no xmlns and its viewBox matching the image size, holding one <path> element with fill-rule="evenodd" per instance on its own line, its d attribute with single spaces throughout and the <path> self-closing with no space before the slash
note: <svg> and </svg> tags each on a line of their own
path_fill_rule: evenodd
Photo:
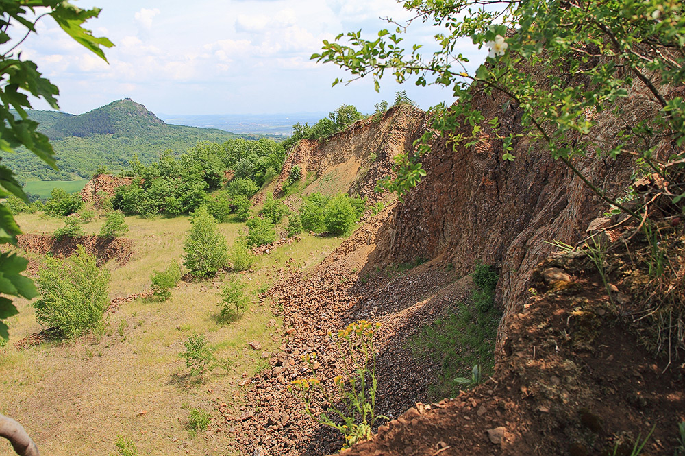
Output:
<svg viewBox="0 0 685 456">
<path fill-rule="evenodd" d="M 413 106 L 395 106 L 383 117 L 358 121 L 325 140 L 303 139 L 286 158 L 273 193 L 282 193 L 290 169 L 297 165 L 303 179 L 312 173 L 319 176 L 306 193 L 349 191 L 369 202 L 380 200 L 373 190 L 377 180 L 390 173 L 397 154 L 412 149 L 425 130 L 426 118 Z"/>
</svg>

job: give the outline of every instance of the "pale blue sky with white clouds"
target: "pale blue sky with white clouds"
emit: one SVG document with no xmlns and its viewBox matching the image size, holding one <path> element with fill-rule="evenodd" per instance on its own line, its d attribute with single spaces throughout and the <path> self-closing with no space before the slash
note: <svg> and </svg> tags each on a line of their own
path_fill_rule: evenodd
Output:
<svg viewBox="0 0 685 456">
<path fill-rule="evenodd" d="M 75 43 L 50 18 L 21 45 L 23 58 L 60 88 L 64 112 L 81 114 L 130 97 L 158 114 L 221 115 L 329 112 L 353 104 L 373 112 L 395 92 L 421 108 L 451 103 L 451 91 L 397 84 L 393 77 L 373 89 L 370 77 L 331 86 L 349 74 L 334 64 L 310 60 L 323 40 L 362 29 L 367 37 L 394 27 L 381 18 L 410 17 L 395 0 L 80 0 L 102 9 L 86 28 L 116 45 L 105 49 L 109 64 Z M 414 21 L 406 36 L 429 50 L 435 27 Z M 464 43 L 479 64 L 486 51 Z M 427 51 L 425 52 L 427 53 Z M 34 108 L 48 109 L 36 101 Z"/>
</svg>

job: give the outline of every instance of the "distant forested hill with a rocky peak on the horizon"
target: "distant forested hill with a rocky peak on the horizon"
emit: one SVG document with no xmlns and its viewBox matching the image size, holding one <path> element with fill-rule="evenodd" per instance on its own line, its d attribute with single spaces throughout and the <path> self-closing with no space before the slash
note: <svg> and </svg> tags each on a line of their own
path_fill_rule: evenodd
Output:
<svg viewBox="0 0 685 456">
<path fill-rule="evenodd" d="M 3 155 L 3 165 L 28 180 L 90 178 L 101 165 L 110 170 L 127 168 L 134 154 L 142 163 L 149 164 L 166 149 L 181 154 L 199 141 L 223 143 L 238 137 L 260 138 L 216 128 L 167 125 L 145 106 L 128 98 L 82 115 L 29 110 L 29 117 L 40 122 L 38 130 L 51 139 L 60 171 L 54 171 L 25 149 Z"/>
</svg>

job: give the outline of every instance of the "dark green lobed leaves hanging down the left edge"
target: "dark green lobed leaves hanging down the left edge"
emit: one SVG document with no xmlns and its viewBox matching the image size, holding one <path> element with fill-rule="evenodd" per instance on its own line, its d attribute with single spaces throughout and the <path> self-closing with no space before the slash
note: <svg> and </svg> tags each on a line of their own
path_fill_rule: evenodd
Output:
<svg viewBox="0 0 685 456">
<path fill-rule="evenodd" d="M 43 13 L 37 18 L 36 9 Z M 0 80 L 3 81 L 3 84 L 0 84 L 0 137 L 2 138 L 0 149 L 3 153 L 14 154 L 16 149 L 23 146 L 28 149 L 29 154 L 37 156 L 53 169 L 57 169 L 55 152 L 47 136 L 38 132 L 38 122 L 29 119 L 27 108 L 32 107 L 28 96 L 31 95 L 36 99 L 42 98 L 51 108 L 58 109 L 55 96 L 59 91 L 49 80 L 42 77 L 34 62 L 22 59 L 18 45 L 30 34 L 36 33 L 36 22 L 43 16 L 49 15 L 77 43 L 105 59 L 101 47 L 111 47 L 110 40 L 92 36 L 89 30 L 82 27 L 88 19 L 97 17 L 99 12 L 98 8 L 91 10 L 77 8 L 68 0 L 35 0 L 29 5 L 27 2 L 16 0 L 3 2 L 0 12 L 0 31 L 2 43 L 7 47 L 7 51 L 0 54 Z M 24 38 L 12 43 L 13 38 L 7 33 L 10 25 L 17 30 L 16 34 L 13 34 L 15 37 L 24 36 Z M 11 112 L 10 108 L 15 112 Z M 0 198 L 10 195 L 28 202 L 14 172 L 0 165 Z M 0 204 L 0 244 L 16 245 L 16 235 L 20 233 L 21 230 L 10 208 Z M 29 299 L 36 296 L 36 287 L 32 280 L 21 276 L 27 264 L 15 255 L 0 254 L 0 276 L 7 279 L 0 280 L 0 293 L 5 296 L 23 296 Z M 0 297 L 0 337 L 4 339 L 9 337 L 8 326 L 3 320 L 16 313 L 12 300 L 4 296 Z"/>
</svg>

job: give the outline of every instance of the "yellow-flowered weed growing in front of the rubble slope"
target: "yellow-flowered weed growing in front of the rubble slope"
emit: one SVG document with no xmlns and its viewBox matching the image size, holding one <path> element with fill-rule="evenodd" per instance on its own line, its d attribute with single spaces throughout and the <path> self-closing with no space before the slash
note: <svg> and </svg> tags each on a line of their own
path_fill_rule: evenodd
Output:
<svg viewBox="0 0 685 456">
<path fill-rule="evenodd" d="M 373 348 L 373 333 L 380 324 L 371 324 L 366 320 L 351 323 L 347 328 L 338 331 L 336 345 L 342 375 L 333 379 L 335 390 L 325 389 L 315 376 L 311 379 L 299 379 L 288 385 L 288 391 L 297 394 L 305 403 L 306 413 L 325 426 L 337 429 L 345 436 L 343 448 L 369 440 L 371 430 L 378 420 L 387 419 L 376 414 L 376 353 Z M 303 360 L 313 366 L 316 353 L 303 355 Z M 312 369 L 313 372 L 316 372 Z M 328 411 L 320 414 L 312 412 L 314 389 L 323 393 Z M 343 407 L 336 405 L 340 400 Z M 332 412 L 332 413 L 331 413 Z"/>
</svg>

